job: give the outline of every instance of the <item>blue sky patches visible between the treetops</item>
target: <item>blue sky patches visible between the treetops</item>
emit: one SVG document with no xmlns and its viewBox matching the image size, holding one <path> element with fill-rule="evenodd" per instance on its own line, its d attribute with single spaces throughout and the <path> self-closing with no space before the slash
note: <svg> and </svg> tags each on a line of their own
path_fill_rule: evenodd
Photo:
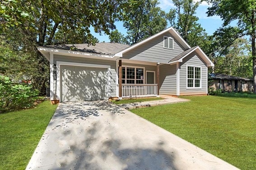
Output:
<svg viewBox="0 0 256 170">
<path fill-rule="evenodd" d="M 172 0 L 158 0 L 158 1 L 160 3 L 158 6 L 162 10 L 164 10 L 166 13 L 168 13 L 170 9 L 175 8 L 175 6 L 172 3 Z M 194 0 L 194 1 L 196 2 L 200 0 Z M 206 2 L 202 2 L 197 8 L 195 15 L 199 18 L 198 23 L 201 24 L 201 27 L 204 28 L 209 35 L 212 35 L 214 31 L 216 31 L 219 27 L 222 26 L 223 22 L 221 18 L 219 18 L 219 16 L 207 17 L 206 12 L 209 6 L 210 4 L 207 4 Z M 118 31 L 126 35 L 126 29 L 123 27 L 122 22 L 115 22 L 115 25 Z M 170 27 L 170 25 L 168 25 L 167 27 Z M 108 35 L 103 34 L 100 36 L 98 33 L 95 33 L 93 31 L 93 27 L 91 27 L 90 30 L 93 36 L 98 38 L 100 42 L 102 41 L 109 42 Z"/>
</svg>

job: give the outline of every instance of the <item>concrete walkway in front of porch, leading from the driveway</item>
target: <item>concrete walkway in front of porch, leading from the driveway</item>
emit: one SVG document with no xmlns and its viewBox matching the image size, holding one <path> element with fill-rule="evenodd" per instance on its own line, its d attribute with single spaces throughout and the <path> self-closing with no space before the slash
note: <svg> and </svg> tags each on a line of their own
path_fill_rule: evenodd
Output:
<svg viewBox="0 0 256 170">
<path fill-rule="evenodd" d="M 173 103 L 182 103 L 182 102 L 190 101 L 185 98 L 171 97 L 168 95 L 160 95 L 160 97 L 165 98 L 165 99 L 147 101 L 147 102 L 124 103 L 124 104 L 118 104 L 118 105 L 125 109 L 133 109 L 133 108 L 140 108 L 140 107 L 150 107 L 150 106 L 158 106 L 158 105 L 163 105 L 163 104 L 173 104 Z"/>
</svg>

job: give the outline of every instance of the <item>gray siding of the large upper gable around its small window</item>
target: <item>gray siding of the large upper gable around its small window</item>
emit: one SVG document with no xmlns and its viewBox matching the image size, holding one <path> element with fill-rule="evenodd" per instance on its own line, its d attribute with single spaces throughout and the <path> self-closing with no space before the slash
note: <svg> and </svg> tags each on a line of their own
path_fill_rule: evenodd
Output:
<svg viewBox="0 0 256 170">
<path fill-rule="evenodd" d="M 123 54 L 123 58 L 154 63 L 168 63 L 168 61 L 185 50 L 174 37 L 172 37 L 174 41 L 174 48 L 163 48 L 163 36 L 172 37 L 169 32 L 165 33 L 126 52 Z"/>
</svg>

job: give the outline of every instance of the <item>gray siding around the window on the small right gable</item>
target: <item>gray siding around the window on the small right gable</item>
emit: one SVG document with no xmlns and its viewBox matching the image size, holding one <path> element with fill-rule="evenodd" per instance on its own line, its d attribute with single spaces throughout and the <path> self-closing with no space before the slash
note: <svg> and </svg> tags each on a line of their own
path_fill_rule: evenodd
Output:
<svg viewBox="0 0 256 170">
<path fill-rule="evenodd" d="M 201 67 L 201 89 L 186 89 L 187 65 Z M 207 67 L 206 63 L 195 52 L 183 59 L 180 65 L 180 95 L 207 94 Z"/>
</svg>

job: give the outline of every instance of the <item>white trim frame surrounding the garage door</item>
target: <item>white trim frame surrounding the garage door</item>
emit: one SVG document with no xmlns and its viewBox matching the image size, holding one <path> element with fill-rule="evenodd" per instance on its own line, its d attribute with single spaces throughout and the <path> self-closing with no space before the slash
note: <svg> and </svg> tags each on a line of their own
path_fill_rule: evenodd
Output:
<svg viewBox="0 0 256 170">
<path fill-rule="evenodd" d="M 56 83 L 56 95 L 57 98 L 62 102 L 61 98 L 61 65 L 66 65 L 66 66 L 80 66 L 80 67 L 98 67 L 98 68 L 107 68 L 107 80 L 109 81 L 107 83 L 107 96 L 110 97 L 110 75 L 111 75 L 111 66 L 109 65 L 101 65 L 101 64 L 88 64 L 88 63 L 72 63 L 72 62 L 56 62 L 57 66 L 57 83 Z"/>
</svg>

